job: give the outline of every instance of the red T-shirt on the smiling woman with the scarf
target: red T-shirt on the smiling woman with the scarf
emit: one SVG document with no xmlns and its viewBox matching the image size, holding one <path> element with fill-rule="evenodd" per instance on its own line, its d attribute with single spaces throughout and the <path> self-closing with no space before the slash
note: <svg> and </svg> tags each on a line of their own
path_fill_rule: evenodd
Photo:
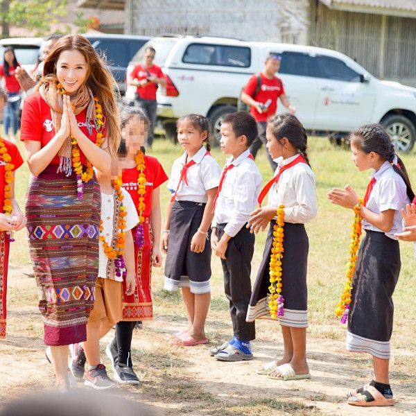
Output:
<svg viewBox="0 0 416 416">
<path fill-rule="evenodd" d="M 96 128 L 94 123 L 90 122 L 92 127 L 92 135 L 89 136 L 89 132 L 86 125 L 86 110 L 80 112 L 76 116 L 78 121 L 78 127 L 80 130 L 93 142 L 96 142 Z M 28 96 L 23 104 L 23 110 L 21 112 L 21 128 L 20 139 L 21 141 L 33 140 L 40 141 L 42 148 L 53 139 L 55 136 L 55 128 L 52 123 L 51 109 L 49 105 L 44 101 L 39 92 Z M 80 161 L 85 164 L 85 155 L 80 151 Z M 58 154 L 53 157 L 51 164 L 59 165 Z"/>
</svg>

